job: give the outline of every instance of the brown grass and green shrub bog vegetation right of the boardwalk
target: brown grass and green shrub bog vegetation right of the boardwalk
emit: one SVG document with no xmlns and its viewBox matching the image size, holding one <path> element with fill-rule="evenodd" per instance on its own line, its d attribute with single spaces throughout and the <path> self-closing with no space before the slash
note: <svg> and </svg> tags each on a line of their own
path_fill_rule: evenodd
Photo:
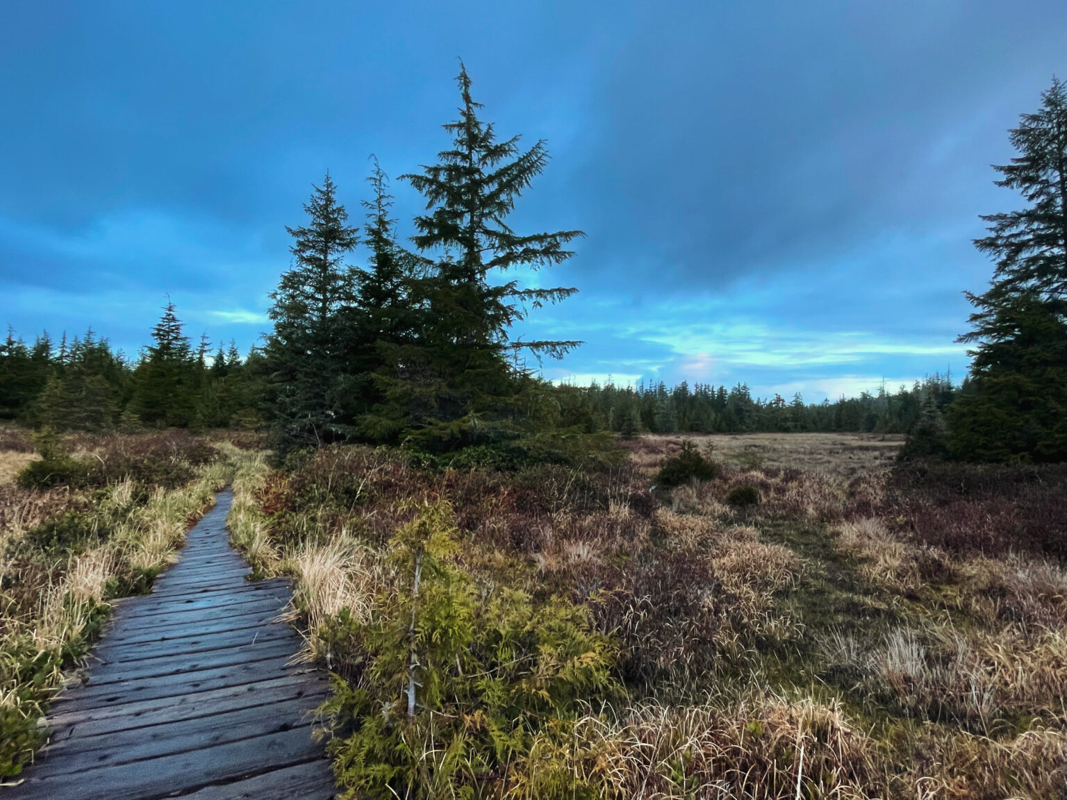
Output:
<svg viewBox="0 0 1067 800">
<path fill-rule="evenodd" d="M 244 453 L 230 524 L 296 578 L 350 797 L 1061 800 L 1053 474 L 1005 483 L 1012 547 L 983 476 L 813 473 L 802 444 L 654 493 L 681 442 L 600 469 Z"/>
</svg>

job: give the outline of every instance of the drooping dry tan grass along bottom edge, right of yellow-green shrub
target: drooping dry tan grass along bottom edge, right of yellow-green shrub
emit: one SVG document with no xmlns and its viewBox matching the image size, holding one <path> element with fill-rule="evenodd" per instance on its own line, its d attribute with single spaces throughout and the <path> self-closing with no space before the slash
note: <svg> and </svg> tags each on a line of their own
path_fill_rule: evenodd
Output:
<svg viewBox="0 0 1067 800">
<path fill-rule="evenodd" d="M 580 720 L 574 742 L 574 769 L 601 797 L 867 800 L 886 785 L 874 742 L 840 707 L 774 694 L 728 706 L 638 704 L 617 721 Z M 517 796 L 538 797 L 537 764 L 553 743 L 535 745 Z"/>
</svg>

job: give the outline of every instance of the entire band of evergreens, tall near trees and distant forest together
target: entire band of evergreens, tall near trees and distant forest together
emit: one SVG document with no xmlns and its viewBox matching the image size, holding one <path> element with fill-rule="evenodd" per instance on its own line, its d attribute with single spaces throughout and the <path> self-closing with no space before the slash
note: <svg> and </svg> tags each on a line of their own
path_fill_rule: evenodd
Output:
<svg viewBox="0 0 1067 800">
<path fill-rule="evenodd" d="M 970 374 L 927 377 L 895 393 L 837 402 L 752 398 L 745 384 L 556 386 L 530 358 L 578 341 L 512 338 L 512 325 L 568 287 L 527 288 L 515 270 L 571 257 L 580 230 L 522 234 L 515 201 L 546 166 L 543 141 L 521 148 L 479 118 L 461 66 L 459 118 L 435 163 L 401 175 L 424 198 L 401 242 L 388 178 L 372 159 L 362 225 L 327 174 L 304 205 L 290 269 L 272 293 L 273 330 L 241 358 L 191 345 L 173 304 L 136 362 L 92 332 L 0 345 L 0 418 L 58 429 L 268 428 L 289 452 L 334 442 L 404 446 L 430 458 L 571 458 L 612 433 L 909 433 L 906 453 L 975 461 L 1067 460 L 1067 89 L 1010 131 L 1018 157 L 994 169 L 1022 210 L 985 217 L 975 241 L 993 257 L 975 306 Z M 356 253 L 363 263 L 353 266 Z"/>
</svg>

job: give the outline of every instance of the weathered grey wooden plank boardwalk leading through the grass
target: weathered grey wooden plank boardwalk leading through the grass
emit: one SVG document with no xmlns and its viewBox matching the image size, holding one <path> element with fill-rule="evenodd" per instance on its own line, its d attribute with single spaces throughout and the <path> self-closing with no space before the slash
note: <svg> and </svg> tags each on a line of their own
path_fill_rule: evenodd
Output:
<svg viewBox="0 0 1067 800">
<path fill-rule="evenodd" d="M 250 582 L 227 544 L 233 495 L 189 532 L 150 595 L 122 601 L 83 684 L 51 706 L 49 745 L 0 800 L 327 800 L 310 733 L 319 673 L 290 663 L 281 580 Z"/>
</svg>

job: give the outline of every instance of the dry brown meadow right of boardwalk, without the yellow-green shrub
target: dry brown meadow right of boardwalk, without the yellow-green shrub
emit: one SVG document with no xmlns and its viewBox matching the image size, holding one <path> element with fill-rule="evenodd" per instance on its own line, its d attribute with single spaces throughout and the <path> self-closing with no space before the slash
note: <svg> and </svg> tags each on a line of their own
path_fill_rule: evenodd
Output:
<svg viewBox="0 0 1067 800">
<path fill-rule="evenodd" d="M 885 511 L 899 437 L 700 437 L 723 474 L 650 495 L 682 441 L 631 443 L 643 483 L 606 487 L 562 467 L 423 474 L 359 448 L 292 475 L 260 461 L 230 524 L 266 572 L 297 576 L 324 662 L 321 623 L 366 613 L 405 501 L 453 502 L 476 580 L 588 602 L 630 699 L 541 735 L 509 797 L 538 797 L 538 766 L 569 758 L 604 798 L 792 799 L 799 779 L 806 798 L 1063 800 L 1061 562 L 915 535 Z M 731 507 L 743 485 L 760 502 Z"/>
</svg>

